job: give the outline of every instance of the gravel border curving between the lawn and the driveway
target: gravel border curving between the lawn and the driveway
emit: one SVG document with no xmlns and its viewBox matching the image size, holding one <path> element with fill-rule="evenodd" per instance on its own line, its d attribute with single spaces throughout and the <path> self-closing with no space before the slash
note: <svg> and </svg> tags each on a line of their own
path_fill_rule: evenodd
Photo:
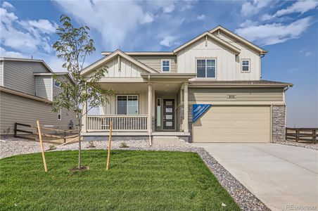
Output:
<svg viewBox="0 0 318 211">
<path fill-rule="evenodd" d="M 6 143 L 0 141 L 0 158 L 9 157 L 11 155 L 18 155 L 18 150 L 14 150 L 16 146 L 22 146 L 25 149 L 20 151 L 20 154 L 26 153 L 37 153 L 39 152 L 39 143 L 34 141 L 16 140 L 16 139 L 6 139 Z M 12 143 L 10 143 L 12 142 Z M 24 143 L 23 143 L 24 142 Z M 27 142 L 27 143 L 26 143 Z M 127 145 L 134 147 L 120 148 L 120 143 L 125 142 Z M 82 142 L 82 149 L 106 149 L 108 146 L 108 141 L 94 141 L 95 148 L 87 148 L 89 143 L 87 141 Z M 4 146 L 8 144 L 6 150 L 3 150 Z M 49 145 L 45 144 L 44 148 L 48 149 Z M 72 143 L 69 145 L 61 146 L 54 151 L 70 151 L 77 150 L 77 143 Z M 262 203 L 253 193 L 250 193 L 248 189 L 243 186 L 231 173 L 229 173 L 225 168 L 220 165 L 217 160 L 215 160 L 208 151 L 204 148 L 194 147 L 194 146 L 148 146 L 148 141 L 112 141 L 112 149 L 120 149 L 127 151 L 182 151 L 182 152 L 193 152 L 198 153 L 202 158 L 205 165 L 210 169 L 212 174 L 217 177 L 220 184 L 227 190 L 232 198 L 238 203 L 241 210 L 269 210 L 269 208 Z M 4 156 L 3 153 L 5 152 Z M 10 155 L 11 152 L 11 155 Z"/>
</svg>

